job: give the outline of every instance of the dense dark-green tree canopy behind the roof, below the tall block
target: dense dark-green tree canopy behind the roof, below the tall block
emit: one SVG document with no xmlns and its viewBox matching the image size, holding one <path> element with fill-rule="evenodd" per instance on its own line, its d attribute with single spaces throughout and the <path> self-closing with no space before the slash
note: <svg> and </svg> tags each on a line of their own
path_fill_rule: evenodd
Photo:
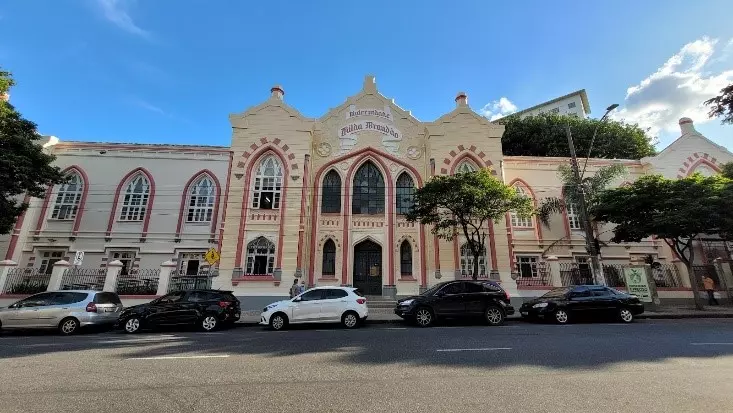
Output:
<svg viewBox="0 0 733 413">
<path fill-rule="evenodd" d="M 652 139 L 637 125 L 574 116 L 542 114 L 497 121 L 506 126 L 501 144 L 508 156 L 570 156 L 565 125 L 570 124 L 578 156 L 588 156 L 593 131 L 598 128 L 591 158 L 640 159 L 656 154 Z"/>
</svg>

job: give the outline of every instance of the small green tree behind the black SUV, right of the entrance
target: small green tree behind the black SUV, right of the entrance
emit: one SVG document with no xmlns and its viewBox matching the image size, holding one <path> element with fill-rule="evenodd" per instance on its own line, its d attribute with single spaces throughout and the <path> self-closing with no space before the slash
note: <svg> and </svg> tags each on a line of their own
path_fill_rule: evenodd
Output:
<svg viewBox="0 0 733 413">
<path fill-rule="evenodd" d="M 481 169 L 430 179 L 415 192 L 407 219 L 432 226 L 432 233 L 442 239 L 462 233 L 474 257 L 473 279 L 477 279 L 479 259 L 486 251 L 486 226 L 509 211 L 531 216 L 532 201 Z"/>
</svg>

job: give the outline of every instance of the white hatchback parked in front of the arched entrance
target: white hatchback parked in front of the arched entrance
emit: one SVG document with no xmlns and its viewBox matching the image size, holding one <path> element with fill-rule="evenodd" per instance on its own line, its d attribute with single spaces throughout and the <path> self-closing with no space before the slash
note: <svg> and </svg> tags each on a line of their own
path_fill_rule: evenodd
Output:
<svg viewBox="0 0 733 413">
<path fill-rule="evenodd" d="M 341 323 L 356 328 L 369 315 L 366 298 L 351 287 L 316 287 L 262 310 L 260 324 L 282 330 L 288 324 Z"/>
</svg>

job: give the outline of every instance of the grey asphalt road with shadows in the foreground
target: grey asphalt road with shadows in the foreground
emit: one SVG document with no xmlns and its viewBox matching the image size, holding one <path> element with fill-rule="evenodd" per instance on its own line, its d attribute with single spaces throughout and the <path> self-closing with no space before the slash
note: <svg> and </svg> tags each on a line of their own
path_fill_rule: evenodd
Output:
<svg viewBox="0 0 733 413">
<path fill-rule="evenodd" d="M 0 412 L 731 412 L 733 320 L 0 336 Z"/>
</svg>

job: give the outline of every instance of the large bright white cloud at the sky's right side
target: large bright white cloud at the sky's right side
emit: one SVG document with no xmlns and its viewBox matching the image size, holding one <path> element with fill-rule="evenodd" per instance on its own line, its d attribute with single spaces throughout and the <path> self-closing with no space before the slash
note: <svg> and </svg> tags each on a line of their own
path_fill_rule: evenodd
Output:
<svg viewBox="0 0 733 413">
<path fill-rule="evenodd" d="M 703 102 L 733 83 L 733 70 L 711 67 L 713 63 L 729 64 L 724 60 L 733 43 L 729 42 L 719 57 L 711 59 L 717 44 L 717 39 L 703 37 L 684 45 L 655 73 L 629 87 L 622 109 L 612 117 L 638 123 L 654 137 L 663 132 L 678 132 L 681 117 L 692 118 L 696 123 L 712 120 Z"/>
</svg>

